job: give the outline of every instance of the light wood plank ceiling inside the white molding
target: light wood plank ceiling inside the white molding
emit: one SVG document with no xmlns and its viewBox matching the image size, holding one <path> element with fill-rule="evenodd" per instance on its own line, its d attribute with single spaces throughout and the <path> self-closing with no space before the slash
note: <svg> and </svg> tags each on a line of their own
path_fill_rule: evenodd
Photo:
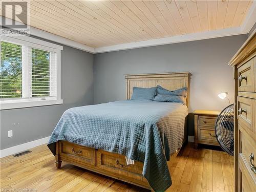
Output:
<svg viewBox="0 0 256 192">
<path fill-rule="evenodd" d="M 27 2 L 30 26 L 93 48 L 239 27 L 253 3 L 245 0 Z M 11 9 L 7 12 L 9 17 Z"/>
</svg>

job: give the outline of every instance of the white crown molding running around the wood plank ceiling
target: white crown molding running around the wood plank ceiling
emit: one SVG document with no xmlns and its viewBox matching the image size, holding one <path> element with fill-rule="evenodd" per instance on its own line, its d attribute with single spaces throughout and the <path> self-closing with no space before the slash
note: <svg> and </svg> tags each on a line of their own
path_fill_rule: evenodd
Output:
<svg viewBox="0 0 256 192">
<path fill-rule="evenodd" d="M 200 33 L 191 33 L 186 35 L 180 36 L 172 36 L 172 37 L 164 37 L 158 39 L 151 39 L 151 40 L 144 40 L 144 41 L 137 41 L 137 42 L 130 42 L 126 44 L 119 44 L 114 46 L 106 46 L 106 47 L 99 47 L 99 48 L 92 48 L 79 42 L 34 28 L 30 27 L 30 34 L 36 37 L 48 39 L 54 42 L 57 42 L 62 45 L 70 46 L 82 51 L 86 51 L 92 54 L 97 53 L 105 53 L 105 52 L 112 52 L 112 51 L 120 51 L 120 50 L 127 50 L 127 49 L 136 49 L 142 47 L 152 47 L 152 46 L 159 46 L 159 45 L 166 45 L 166 44 L 176 44 L 179 42 L 187 42 L 187 41 L 194 41 L 194 40 L 203 40 L 203 39 L 210 39 L 210 38 L 217 38 L 217 37 L 224 37 L 224 36 L 232 36 L 232 35 L 241 35 L 249 33 L 250 29 L 255 24 L 256 18 L 256 1 L 253 2 L 244 23 L 241 27 L 237 28 L 228 28 L 228 29 L 220 29 L 215 31 L 205 31 Z M 9 18 L 7 18 L 9 19 Z M 11 20 L 11 19 L 9 19 Z M 0 19 L 2 22 L 2 16 Z"/>
</svg>

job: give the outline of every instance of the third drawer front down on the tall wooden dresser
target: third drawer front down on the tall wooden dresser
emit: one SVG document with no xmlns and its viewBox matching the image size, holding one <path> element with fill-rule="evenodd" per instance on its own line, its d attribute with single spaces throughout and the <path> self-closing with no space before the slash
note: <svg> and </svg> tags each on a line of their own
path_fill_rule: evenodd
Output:
<svg viewBox="0 0 256 192">
<path fill-rule="evenodd" d="M 256 174 L 251 170 L 250 167 L 250 156 L 254 158 L 251 160 L 252 164 L 256 166 L 256 141 L 241 127 L 238 125 L 239 128 L 239 161 L 240 163 L 244 163 L 244 167 L 247 169 L 250 177 L 256 184 Z M 242 161 L 242 162 L 241 162 Z"/>
</svg>

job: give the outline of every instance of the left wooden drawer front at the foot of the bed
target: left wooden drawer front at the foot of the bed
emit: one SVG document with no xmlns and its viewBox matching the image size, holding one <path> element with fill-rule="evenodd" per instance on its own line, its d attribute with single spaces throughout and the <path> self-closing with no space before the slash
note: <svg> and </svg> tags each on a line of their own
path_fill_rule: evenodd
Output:
<svg viewBox="0 0 256 192">
<path fill-rule="evenodd" d="M 96 150 L 94 148 L 77 145 L 67 141 L 60 141 L 59 143 L 60 158 L 74 159 L 87 165 L 96 166 Z"/>
</svg>

